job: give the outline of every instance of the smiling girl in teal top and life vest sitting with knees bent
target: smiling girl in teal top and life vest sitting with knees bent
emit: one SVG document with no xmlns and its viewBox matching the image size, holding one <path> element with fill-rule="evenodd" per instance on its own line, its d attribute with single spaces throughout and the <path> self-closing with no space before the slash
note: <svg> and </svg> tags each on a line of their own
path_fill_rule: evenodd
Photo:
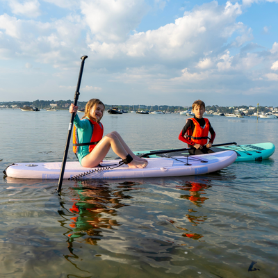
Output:
<svg viewBox="0 0 278 278">
<path fill-rule="evenodd" d="M 70 113 L 76 113 L 77 108 L 78 106 L 71 104 Z M 104 127 L 100 120 L 104 108 L 99 99 L 90 99 L 85 106 L 82 119 L 79 119 L 77 113 L 74 117 L 73 148 L 80 164 L 83 167 L 96 167 L 112 148 L 129 167 L 146 167 L 147 160 L 133 154 L 117 131 L 112 131 L 102 138 Z"/>
</svg>

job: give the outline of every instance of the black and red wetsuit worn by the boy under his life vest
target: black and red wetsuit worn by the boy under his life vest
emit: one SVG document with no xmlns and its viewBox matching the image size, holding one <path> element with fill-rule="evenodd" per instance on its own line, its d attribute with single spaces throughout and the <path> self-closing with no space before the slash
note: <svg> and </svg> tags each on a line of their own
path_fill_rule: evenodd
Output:
<svg viewBox="0 0 278 278">
<path fill-rule="evenodd" d="M 204 118 L 202 117 L 202 119 L 198 119 L 197 117 L 194 117 L 194 119 L 199 123 L 199 125 L 204 128 L 206 122 L 204 120 Z M 193 120 L 188 119 L 186 120 L 186 125 L 183 126 L 183 129 L 181 131 L 181 133 L 179 134 L 179 140 L 185 142 L 188 144 L 188 147 L 193 147 L 193 145 L 195 144 L 195 142 L 193 142 L 193 140 L 191 140 L 191 138 L 185 137 L 186 135 L 188 136 L 192 136 L 193 135 L 193 131 L 195 129 L 195 124 L 193 123 Z M 213 140 L 215 138 L 215 131 L 213 130 L 213 127 L 211 126 L 211 123 L 209 122 L 209 133 L 211 133 L 211 138 L 209 140 L 209 142 L 212 144 Z M 206 148 L 206 146 L 203 146 L 202 149 L 190 149 L 189 150 L 189 154 L 193 155 L 193 154 L 208 154 L 208 153 L 212 153 L 213 151 L 211 149 Z"/>
</svg>

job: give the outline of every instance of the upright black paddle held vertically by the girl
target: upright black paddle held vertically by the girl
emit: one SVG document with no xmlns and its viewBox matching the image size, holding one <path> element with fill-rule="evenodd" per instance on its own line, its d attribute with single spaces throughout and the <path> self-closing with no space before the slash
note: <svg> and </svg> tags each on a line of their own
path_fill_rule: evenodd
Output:
<svg viewBox="0 0 278 278">
<path fill-rule="evenodd" d="M 76 85 L 76 91 L 75 91 L 75 95 L 74 95 L 74 106 L 77 105 L 77 101 L 79 99 L 79 88 L 80 88 L 80 84 L 81 84 L 81 78 L 82 78 L 82 74 L 83 74 L 83 67 L 84 67 L 84 63 L 85 63 L 85 59 L 88 58 L 88 56 L 82 56 L 81 57 L 81 66 L 80 66 L 80 71 L 79 71 L 79 79 L 77 81 L 77 85 Z M 64 172 L 65 172 L 65 163 L 67 162 L 67 152 L 69 151 L 69 147 L 70 147 L 70 137 L 72 136 L 72 126 L 74 123 L 74 117 L 75 117 L 75 113 L 72 113 L 72 118 L 70 120 L 70 126 L 69 126 L 69 131 L 67 133 L 67 142 L 65 144 L 65 152 L 64 152 L 64 158 L 63 158 L 63 163 L 62 163 L 62 167 L 60 170 L 60 178 L 58 181 L 58 188 L 57 188 L 57 192 L 60 193 L 60 190 L 62 189 L 62 183 L 63 183 L 63 177 L 64 177 Z"/>
</svg>

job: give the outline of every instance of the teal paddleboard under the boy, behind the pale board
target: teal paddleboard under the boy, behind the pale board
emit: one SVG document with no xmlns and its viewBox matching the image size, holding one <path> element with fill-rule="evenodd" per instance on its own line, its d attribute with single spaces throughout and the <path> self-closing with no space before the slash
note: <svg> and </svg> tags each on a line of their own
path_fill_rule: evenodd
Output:
<svg viewBox="0 0 278 278">
<path fill-rule="evenodd" d="M 165 151 L 163 154 L 154 154 L 149 155 L 149 157 L 170 157 L 170 156 L 188 156 L 188 151 L 182 152 L 170 152 L 167 154 L 167 150 L 172 149 L 155 149 L 151 151 L 140 151 L 134 152 L 134 154 L 140 156 L 142 154 L 152 153 L 152 152 L 160 152 Z M 270 142 L 258 143 L 258 144 L 248 144 L 248 145 L 227 145 L 221 147 L 212 147 L 211 150 L 213 152 L 222 152 L 227 150 L 232 150 L 236 152 L 237 158 L 236 161 L 262 161 L 263 159 L 267 159 L 275 152 L 275 145 Z"/>
</svg>

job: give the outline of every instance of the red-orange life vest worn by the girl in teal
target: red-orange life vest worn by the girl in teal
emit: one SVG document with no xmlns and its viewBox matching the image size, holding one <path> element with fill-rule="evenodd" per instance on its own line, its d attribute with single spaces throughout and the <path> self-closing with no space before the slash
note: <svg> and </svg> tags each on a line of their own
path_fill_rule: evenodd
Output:
<svg viewBox="0 0 278 278">
<path fill-rule="evenodd" d="M 86 119 L 90 122 L 92 126 L 92 136 L 90 142 L 79 142 L 78 134 L 76 126 L 74 126 L 74 136 L 73 136 L 73 149 L 74 153 L 76 154 L 78 152 L 79 146 L 89 146 L 89 152 L 92 152 L 92 150 L 95 148 L 97 143 L 102 139 L 102 136 L 104 136 L 104 126 L 101 124 L 101 122 L 97 123 L 95 121 Z"/>
</svg>

